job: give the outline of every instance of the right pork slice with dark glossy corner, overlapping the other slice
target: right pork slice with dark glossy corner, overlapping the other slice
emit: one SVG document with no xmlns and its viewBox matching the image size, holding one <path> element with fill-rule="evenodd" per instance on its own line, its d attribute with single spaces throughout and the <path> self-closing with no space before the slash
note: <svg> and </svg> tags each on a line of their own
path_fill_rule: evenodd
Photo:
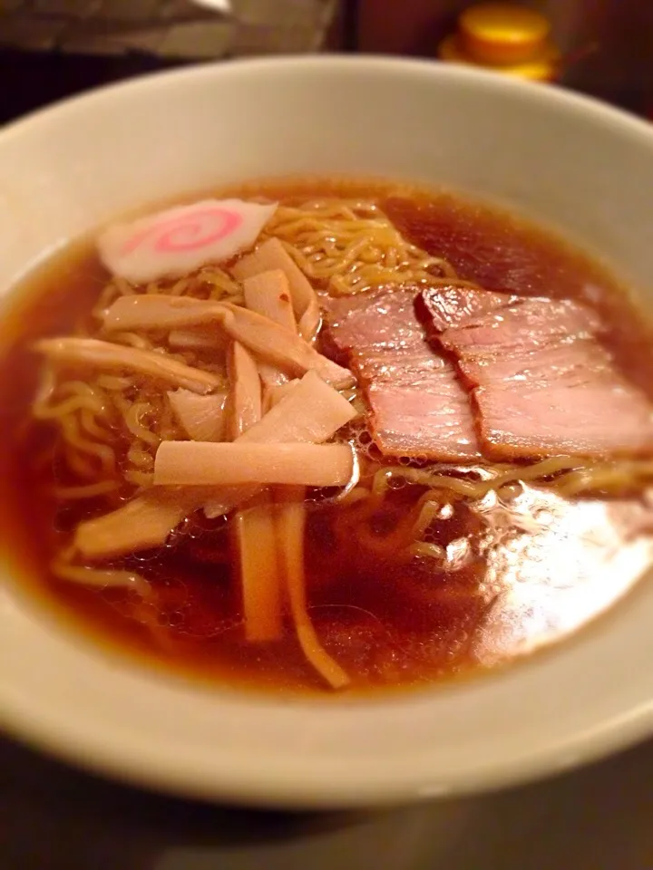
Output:
<svg viewBox="0 0 653 870">
<path fill-rule="evenodd" d="M 418 310 L 473 390 L 483 452 L 518 459 L 653 451 L 653 408 L 597 341 L 601 326 L 589 309 L 452 288 L 424 291 Z"/>
</svg>

